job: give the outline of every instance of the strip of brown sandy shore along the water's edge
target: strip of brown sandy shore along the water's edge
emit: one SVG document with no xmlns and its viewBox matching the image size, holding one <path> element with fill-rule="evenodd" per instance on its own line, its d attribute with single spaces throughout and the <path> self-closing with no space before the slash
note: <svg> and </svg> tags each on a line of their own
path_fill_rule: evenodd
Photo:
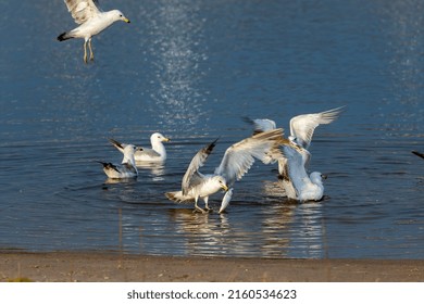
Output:
<svg viewBox="0 0 424 304">
<path fill-rule="evenodd" d="M 0 281 L 424 281 L 424 261 L 0 253 Z"/>
</svg>

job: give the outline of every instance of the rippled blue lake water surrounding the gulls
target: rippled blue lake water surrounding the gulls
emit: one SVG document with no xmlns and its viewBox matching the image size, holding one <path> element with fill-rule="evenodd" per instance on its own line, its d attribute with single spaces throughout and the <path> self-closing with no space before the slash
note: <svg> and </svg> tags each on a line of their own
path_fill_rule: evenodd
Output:
<svg viewBox="0 0 424 304">
<path fill-rule="evenodd" d="M 103 1 L 132 21 L 93 39 L 63 1 L 1 1 L 0 250 L 183 256 L 424 257 L 424 1 Z M 115 7 L 116 5 L 116 7 Z M 17 12 L 17 15 L 16 15 Z M 192 155 L 203 172 L 251 132 L 241 117 L 346 105 L 315 130 L 325 200 L 288 203 L 255 163 L 227 213 L 169 201 Z M 165 166 L 105 183 L 108 138 L 172 138 Z M 222 193 L 212 198 L 219 208 Z"/>
</svg>

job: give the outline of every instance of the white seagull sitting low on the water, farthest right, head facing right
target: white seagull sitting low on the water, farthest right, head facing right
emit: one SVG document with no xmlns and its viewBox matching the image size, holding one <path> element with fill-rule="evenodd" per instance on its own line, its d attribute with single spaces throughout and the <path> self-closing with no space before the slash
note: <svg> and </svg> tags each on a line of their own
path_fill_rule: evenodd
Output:
<svg viewBox="0 0 424 304">
<path fill-rule="evenodd" d="M 302 156 L 304 151 L 308 152 L 305 149 L 296 149 L 291 145 L 283 147 L 283 153 L 287 159 L 284 179 L 289 179 L 288 183 L 294 188 L 294 190 L 289 188 L 290 192 L 287 197 L 300 202 L 320 201 L 324 195 L 323 179 L 326 179 L 326 176 L 319 172 L 313 172 L 308 176 Z"/>
</svg>

